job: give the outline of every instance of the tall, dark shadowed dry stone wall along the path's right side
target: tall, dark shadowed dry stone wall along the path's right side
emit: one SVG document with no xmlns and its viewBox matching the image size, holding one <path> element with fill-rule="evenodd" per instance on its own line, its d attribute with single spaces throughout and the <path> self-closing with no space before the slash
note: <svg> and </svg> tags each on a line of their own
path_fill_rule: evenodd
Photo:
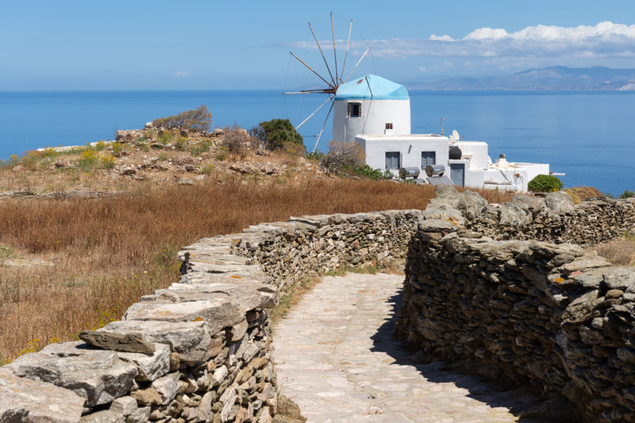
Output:
<svg viewBox="0 0 635 423">
<path fill-rule="evenodd" d="M 589 421 L 635 422 L 635 267 L 610 266 L 577 245 L 470 231 L 478 226 L 464 216 L 465 204 L 482 204 L 477 200 L 448 191 L 426 209 L 406 262 L 399 334 L 426 355 L 533 386 L 552 410 L 567 398 Z M 548 204 L 538 202 L 547 201 L 527 203 L 544 210 Z M 615 204 L 632 211 L 632 202 Z M 568 212 L 545 214 L 567 227 L 564 216 L 575 215 L 569 205 Z M 589 208 L 603 209 L 595 201 L 579 207 Z M 599 221 L 618 219 L 605 211 Z M 632 214 L 619 219 L 632 221 Z M 534 222 L 515 226 L 516 233 L 534 233 Z M 584 233 L 598 231 L 569 234 L 595 240 Z"/>
</svg>

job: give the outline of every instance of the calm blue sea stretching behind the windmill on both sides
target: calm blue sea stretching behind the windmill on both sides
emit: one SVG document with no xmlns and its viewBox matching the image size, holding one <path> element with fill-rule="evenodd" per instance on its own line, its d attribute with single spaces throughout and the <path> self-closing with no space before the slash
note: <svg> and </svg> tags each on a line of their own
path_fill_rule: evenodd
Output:
<svg viewBox="0 0 635 423">
<path fill-rule="evenodd" d="M 492 159 L 549 163 L 567 187 L 619 195 L 635 190 L 635 93 L 414 91 L 412 133 L 459 132 L 485 141 Z M 206 104 L 214 127 L 289 118 L 298 125 L 325 99 L 282 90 L 0 92 L 0 159 L 28 150 L 113 140 L 117 129 Z M 299 132 L 310 151 L 327 106 Z M 443 121 L 441 121 L 443 119 Z M 331 139 L 327 121 L 317 149 Z M 443 125 L 443 126 L 442 126 Z"/>
</svg>

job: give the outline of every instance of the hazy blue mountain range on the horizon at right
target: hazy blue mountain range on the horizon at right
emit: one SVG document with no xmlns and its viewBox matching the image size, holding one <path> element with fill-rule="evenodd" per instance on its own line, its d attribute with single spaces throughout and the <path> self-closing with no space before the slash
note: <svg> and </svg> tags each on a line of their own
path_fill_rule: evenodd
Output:
<svg viewBox="0 0 635 423">
<path fill-rule="evenodd" d="M 406 82 L 410 90 L 594 90 L 635 91 L 635 69 L 533 68 L 504 76 Z"/>
</svg>

